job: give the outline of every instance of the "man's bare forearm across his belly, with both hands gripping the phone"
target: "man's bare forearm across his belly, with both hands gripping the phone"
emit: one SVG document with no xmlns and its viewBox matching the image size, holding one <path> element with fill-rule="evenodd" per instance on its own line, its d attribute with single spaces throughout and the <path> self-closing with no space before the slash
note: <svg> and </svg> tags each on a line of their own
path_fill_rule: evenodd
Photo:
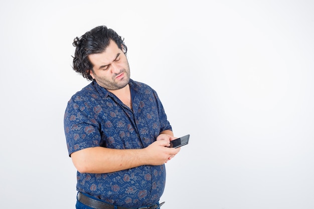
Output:
<svg viewBox="0 0 314 209">
<path fill-rule="evenodd" d="M 81 173 L 109 173 L 141 165 L 161 165 L 180 149 L 169 148 L 173 132 L 165 130 L 146 148 L 110 149 L 105 147 L 85 148 L 71 154 L 76 169 Z"/>
</svg>

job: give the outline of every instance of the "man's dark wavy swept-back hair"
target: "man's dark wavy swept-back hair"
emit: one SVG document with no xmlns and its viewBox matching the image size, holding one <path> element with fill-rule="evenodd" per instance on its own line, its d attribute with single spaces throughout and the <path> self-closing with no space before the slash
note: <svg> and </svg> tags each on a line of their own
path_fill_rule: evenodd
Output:
<svg viewBox="0 0 314 209">
<path fill-rule="evenodd" d="M 72 56 L 73 70 L 92 81 L 93 78 L 89 72 L 93 65 L 89 61 L 88 55 L 104 52 L 109 46 L 110 40 L 114 41 L 126 55 L 127 47 L 123 42 L 124 39 L 106 26 L 98 26 L 86 32 L 81 38 L 76 37 L 73 41 L 73 46 L 76 47 L 74 57 Z"/>
</svg>

